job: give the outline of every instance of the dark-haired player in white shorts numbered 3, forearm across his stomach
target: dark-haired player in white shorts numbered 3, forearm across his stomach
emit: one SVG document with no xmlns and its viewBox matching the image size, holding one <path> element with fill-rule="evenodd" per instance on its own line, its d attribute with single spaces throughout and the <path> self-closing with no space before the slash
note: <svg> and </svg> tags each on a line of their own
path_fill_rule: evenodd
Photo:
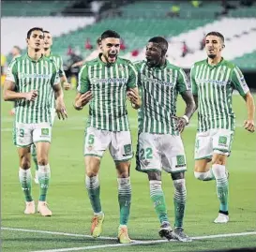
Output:
<svg viewBox="0 0 256 252">
<path fill-rule="evenodd" d="M 55 96 L 59 118 L 67 116 L 57 68 L 43 57 L 43 30 L 34 27 L 27 32 L 27 54 L 13 60 L 4 84 L 4 99 L 15 101 L 14 143 L 20 159 L 19 179 L 25 197 L 24 214 L 35 214 L 31 194 L 30 146 L 37 145 L 40 193 L 38 212 L 51 216 L 46 202 L 51 170 L 49 150 L 52 136 L 51 97 Z"/>
</svg>

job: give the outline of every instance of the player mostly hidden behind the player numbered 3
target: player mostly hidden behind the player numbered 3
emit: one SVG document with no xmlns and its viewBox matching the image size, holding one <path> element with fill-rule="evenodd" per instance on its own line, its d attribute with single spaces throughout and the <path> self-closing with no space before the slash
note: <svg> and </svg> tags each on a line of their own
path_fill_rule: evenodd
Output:
<svg viewBox="0 0 256 252">
<path fill-rule="evenodd" d="M 61 58 L 61 56 L 52 53 L 53 37 L 52 37 L 52 35 L 49 31 L 43 31 L 43 34 L 44 34 L 44 47 L 43 47 L 42 53 L 44 54 L 45 57 L 53 60 L 53 62 L 55 63 L 55 65 L 57 67 L 57 70 L 58 70 L 61 85 L 64 87 L 65 90 L 68 90 L 68 89 L 71 88 L 71 85 L 68 83 L 67 77 L 65 75 L 65 71 L 63 69 L 62 58 Z M 52 96 L 51 104 L 52 104 L 52 126 L 53 126 L 54 117 L 55 117 L 55 99 L 54 99 L 54 96 Z M 38 160 L 37 160 L 37 150 L 36 150 L 36 145 L 35 144 L 31 145 L 31 156 L 33 158 L 33 161 L 34 161 L 35 167 L 36 167 L 36 173 L 35 173 L 34 181 L 35 181 L 36 184 L 39 184 L 39 181 L 38 181 Z"/>
</svg>

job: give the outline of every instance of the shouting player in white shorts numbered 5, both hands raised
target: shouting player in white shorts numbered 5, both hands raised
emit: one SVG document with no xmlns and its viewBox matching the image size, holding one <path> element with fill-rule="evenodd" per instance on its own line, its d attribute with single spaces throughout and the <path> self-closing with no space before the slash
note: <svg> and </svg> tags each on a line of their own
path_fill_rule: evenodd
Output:
<svg viewBox="0 0 256 252">
<path fill-rule="evenodd" d="M 85 185 L 94 211 L 91 234 L 102 232 L 104 213 L 99 199 L 98 171 L 100 159 L 109 148 L 117 170 L 120 225 L 118 240 L 128 244 L 128 216 L 131 199 L 129 179 L 132 158 L 131 136 L 128 126 L 127 95 L 134 109 L 141 99 L 138 94 L 137 73 L 133 65 L 118 57 L 120 36 L 107 30 L 101 35 L 98 58 L 83 65 L 79 73 L 78 94 L 74 107 L 82 110 L 89 101 L 89 119 L 85 132 Z"/>
</svg>

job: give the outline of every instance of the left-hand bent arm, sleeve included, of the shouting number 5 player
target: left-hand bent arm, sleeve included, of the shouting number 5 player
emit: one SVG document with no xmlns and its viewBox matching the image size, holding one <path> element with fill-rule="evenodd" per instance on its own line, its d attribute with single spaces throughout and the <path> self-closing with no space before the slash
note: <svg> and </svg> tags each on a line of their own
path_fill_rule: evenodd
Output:
<svg viewBox="0 0 256 252">
<path fill-rule="evenodd" d="M 77 111 L 83 110 L 83 107 L 92 99 L 93 94 L 89 90 L 90 81 L 88 79 L 88 67 L 84 65 L 78 75 L 77 95 L 75 97 L 74 108 Z"/>
</svg>

